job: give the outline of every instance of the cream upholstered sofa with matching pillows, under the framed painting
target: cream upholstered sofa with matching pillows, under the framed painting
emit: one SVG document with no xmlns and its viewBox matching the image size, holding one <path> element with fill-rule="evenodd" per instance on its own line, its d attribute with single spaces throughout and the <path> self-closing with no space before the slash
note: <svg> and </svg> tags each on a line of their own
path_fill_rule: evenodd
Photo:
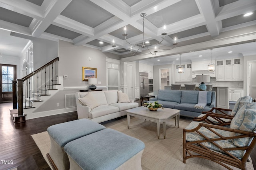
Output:
<svg viewBox="0 0 256 170">
<path fill-rule="evenodd" d="M 126 115 L 126 110 L 134 107 L 138 107 L 138 103 L 118 90 L 76 93 L 78 119 L 87 118 L 100 123 Z"/>
</svg>

